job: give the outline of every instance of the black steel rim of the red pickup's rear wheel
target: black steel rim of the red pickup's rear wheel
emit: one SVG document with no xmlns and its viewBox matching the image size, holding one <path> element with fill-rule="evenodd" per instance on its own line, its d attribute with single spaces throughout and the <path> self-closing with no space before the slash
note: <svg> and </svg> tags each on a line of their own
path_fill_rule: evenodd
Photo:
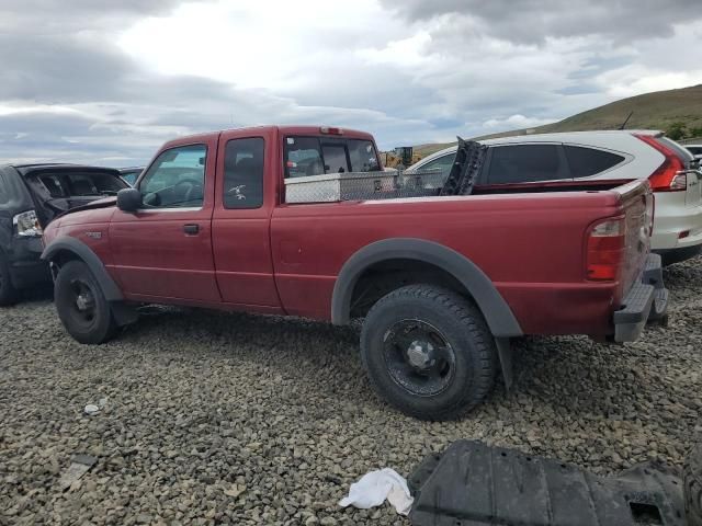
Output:
<svg viewBox="0 0 702 526">
<path fill-rule="evenodd" d="M 453 347 L 439 329 L 422 320 L 394 323 L 383 338 L 383 354 L 393 381 L 415 396 L 437 396 L 455 376 Z"/>
</svg>

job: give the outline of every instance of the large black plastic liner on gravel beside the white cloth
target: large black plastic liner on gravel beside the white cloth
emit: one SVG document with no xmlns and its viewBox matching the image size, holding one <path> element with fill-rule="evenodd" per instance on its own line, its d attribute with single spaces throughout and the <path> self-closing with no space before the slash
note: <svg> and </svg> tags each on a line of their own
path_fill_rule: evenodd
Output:
<svg viewBox="0 0 702 526">
<path fill-rule="evenodd" d="M 558 460 L 457 441 L 409 479 L 416 526 L 686 525 L 677 470 L 648 462 L 605 478 Z"/>
</svg>

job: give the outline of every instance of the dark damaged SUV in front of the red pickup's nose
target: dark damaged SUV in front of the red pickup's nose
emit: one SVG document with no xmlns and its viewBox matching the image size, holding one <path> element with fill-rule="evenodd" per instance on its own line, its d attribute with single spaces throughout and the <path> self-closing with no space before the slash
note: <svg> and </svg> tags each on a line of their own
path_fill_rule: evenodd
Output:
<svg viewBox="0 0 702 526">
<path fill-rule="evenodd" d="M 0 305 L 50 282 L 44 227 L 63 213 L 128 187 L 117 170 L 77 164 L 0 165 Z"/>
</svg>

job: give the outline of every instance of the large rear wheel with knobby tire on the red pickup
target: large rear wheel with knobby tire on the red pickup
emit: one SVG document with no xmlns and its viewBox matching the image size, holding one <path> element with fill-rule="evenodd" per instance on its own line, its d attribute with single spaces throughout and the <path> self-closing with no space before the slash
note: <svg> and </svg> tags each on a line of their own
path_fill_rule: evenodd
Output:
<svg viewBox="0 0 702 526">
<path fill-rule="evenodd" d="M 497 366 L 495 339 L 477 307 L 431 285 L 398 288 L 373 306 L 361 331 L 361 357 L 381 398 L 432 421 L 482 403 Z"/>
</svg>

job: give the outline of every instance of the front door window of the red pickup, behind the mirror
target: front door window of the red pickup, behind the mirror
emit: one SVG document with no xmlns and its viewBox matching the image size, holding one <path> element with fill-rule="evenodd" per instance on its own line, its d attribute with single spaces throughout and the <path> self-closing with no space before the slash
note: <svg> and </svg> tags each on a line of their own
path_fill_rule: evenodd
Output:
<svg viewBox="0 0 702 526">
<path fill-rule="evenodd" d="M 146 208 L 201 207 L 207 147 L 191 145 L 163 151 L 139 183 Z"/>
</svg>

